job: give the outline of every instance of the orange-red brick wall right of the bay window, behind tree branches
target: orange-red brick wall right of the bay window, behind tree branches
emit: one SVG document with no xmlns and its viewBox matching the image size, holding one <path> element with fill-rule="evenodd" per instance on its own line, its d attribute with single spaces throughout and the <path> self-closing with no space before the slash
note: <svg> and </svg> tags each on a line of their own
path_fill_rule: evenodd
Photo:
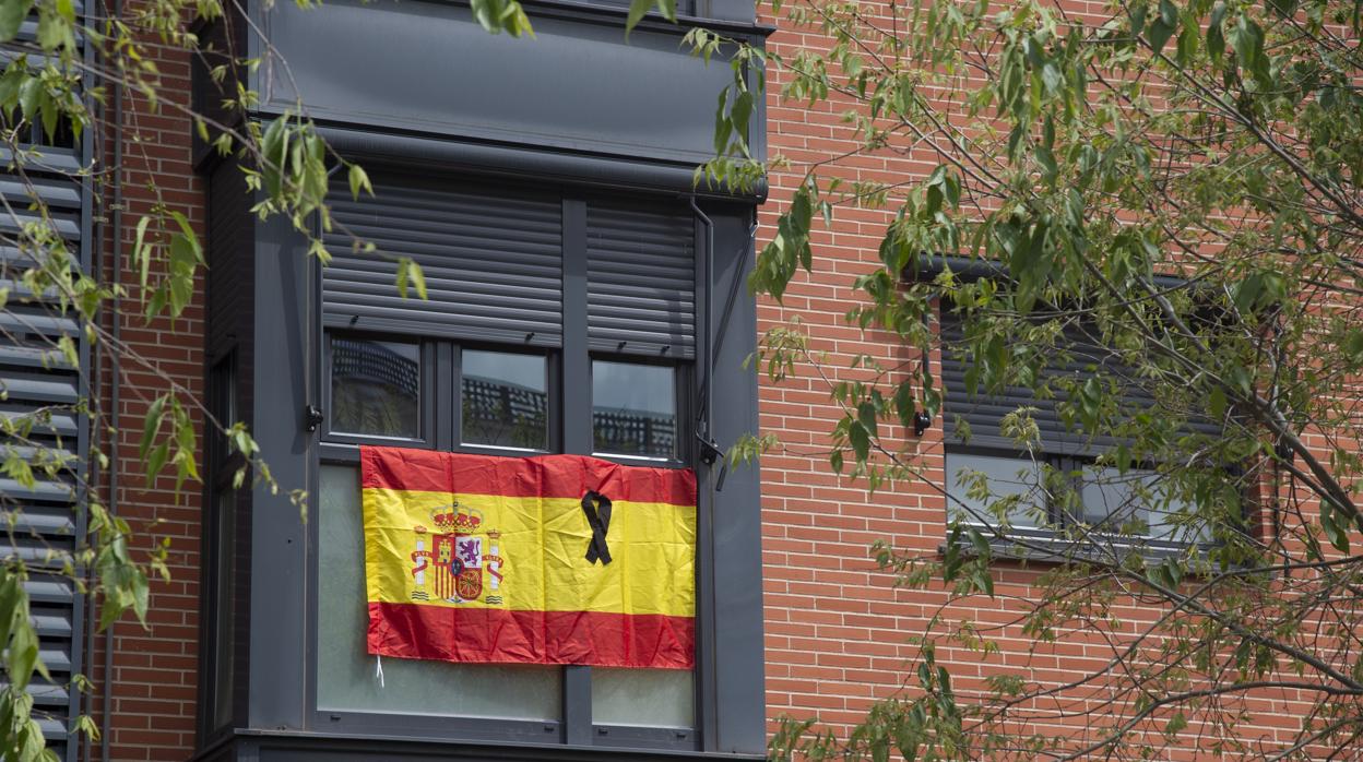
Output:
<svg viewBox="0 0 1363 762">
<path fill-rule="evenodd" d="M 1071 14 L 1105 8 L 1082 1 L 1069 1 L 1065 7 Z M 759 8 L 761 12 L 770 8 Z M 785 23 L 770 16 L 766 20 Z M 789 27 L 767 42 L 770 50 L 786 60 L 801 48 L 831 45 L 816 30 Z M 840 117 L 852 104 L 838 101 L 836 94 L 814 110 L 804 104 L 782 104 L 777 93 L 788 78 L 788 71 L 769 71 L 769 151 L 793 164 L 770 177 L 770 200 L 761 211 L 759 248 L 770 240 L 778 214 L 804 180 L 806 168 L 857 147 L 852 129 Z M 840 161 L 831 170 L 821 168 L 821 173 L 844 180 L 904 183 L 925 177 L 936 164 L 920 150 Z M 825 353 L 822 372 L 829 382 L 864 379 L 864 372 L 848 369 L 857 354 L 886 364 L 913 359 L 893 337 L 874 330 L 863 334 L 844 320 L 845 312 L 860 301 L 853 279 L 879 266 L 876 249 L 893 211 L 838 207 L 831 226 L 825 226 L 815 214 L 812 274 L 800 270 L 781 304 L 759 301 L 759 334 L 799 319 L 811 350 Z M 934 369 L 939 368 L 938 360 L 935 354 L 930 357 Z M 1029 608 L 1025 601 L 1040 593 L 1041 571 L 1036 567 L 995 563 L 995 598 L 981 596 L 951 605 L 940 582 L 920 590 L 894 588 L 894 577 L 878 571 L 872 560 L 872 543 L 885 540 L 900 549 L 934 553 L 946 538 L 942 420 L 938 417 L 917 442 L 912 432 L 891 431 L 891 439 L 898 438 L 913 453 L 910 462 L 921 468 L 923 480 L 868 495 L 864 483 L 840 477 L 829 466 L 829 433 L 842 416 L 829 399 L 829 382 L 811 364 L 799 365 L 782 383 L 765 376 L 761 380 L 761 427 L 781 442 L 762 461 L 769 732 L 776 727 L 771 718 L 789 714 L 818 716 L 841 733 L 864 718 L 876 699 L 912 695 L 916 677 L 910 660 L 919 656 L 919 647 L 910 638 L 924 634 L 934 616 L 996 628 L 992 635 L 1002 647 L 998 654 L 938 649 L 938 661 L 947 667 L 954 687 L 964 694 L 984 691 L 984 680 L 1005 668 L 1054 684 L 1079 679 L 1112 657 L 1109 639 L 1130 641 L 1159 616 L 1154 608 L 1119 597 L 1114 601 L 1114 622 L 1065 630 L 1060 642 L 1033 650 L 1035 641 L 1022 633 L 1020 619 Z M 1114 686 L 1097 684 L 1074 707 L 1096 707 L 1115 695 Z M 1295 691 L 1265 691 L 1246 699 L 1243 706 L 1253 720 L 1240 727 L 1240 739 L 1250 744 L 1287 740 L 1300 727 L 1307 706 L 1302 698 Z M 1190 721 L 1186 747 L 1197 748 L 1214 737 L 1214 732 L 1194 737 L 1197 717 L 1190 714 Z M 1060 729 L 1077 739 L 1100 736 L 1101 728 L 1084 729 L 1084 724 L 1086 720 L 1074 718 Z M 1056 727 L 1041 722 L 1015 729 L 1047 733 Z M 1161 752 L 1160 758 L 1164 754 L 1179 752 Z"/>
</svg>

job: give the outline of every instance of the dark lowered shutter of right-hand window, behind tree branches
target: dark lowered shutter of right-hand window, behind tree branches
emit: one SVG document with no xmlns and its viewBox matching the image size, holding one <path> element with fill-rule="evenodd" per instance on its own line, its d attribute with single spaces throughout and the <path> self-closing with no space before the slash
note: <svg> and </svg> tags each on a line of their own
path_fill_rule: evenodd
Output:
<svg viewBox="0 0 1363 762">
<path fill-rule="evenodd" d="M 958 316 L 942 311 L 942 383 L 946 387 L 943 427 L 947 443 L 960 443 L 964 432 L 957 431 L 957 418 L 964 421 L 970 431 L 969 443 L 980 447 L 1000 447 L 1015 450 L 1017 444 L 1003 436 L 999 431 L 999 421 L 1003 416 L 1022 406 L 1035 408 L 1032 418 L 1041 433 L 1041 450 L 1055 455 L 1086 457 L 1108 450 L 1119 444 L 1118 439 L 1107 435 L 1089 438 L 1084 432 L 1066 429 L 1058 403 L 1063 401 L 1063 391 L 1055 384 L 1058 379 L 1070 376 L 1082 380 L 1092 375 L 1092 368 L 1101 367 L 1109 376 L 1120 375 L 1127 383 L 1123 387 L 1123 406 L 1130 410 L 1144 410 L 1154 405 L 1154 398 L 1142 388 L 1138 379 L 1124 374 L 1118 359 L 1108 349 L 1096 344 L 1090 337 L 1078 331 L 1066 334 L 1069 357 L 1055 356 L 1041 371 L 1043 382 L 1051 382 L 1051 390 L 1059 397 L 1041 399 L 1036 388 L 1010 386 L 1002 394 L 977 394 L 970 397 L 966 391 L 965 374 L 970 359 L 962 350 L 965 334 Z M 1062 361 L 1065 360 L 1065 361 Z M 1039 387 L 1041 383 L 1037 384 Z M 1194 420 L 1187 431 L 1216 435 L 1220 427 L 1210 420 Z"/>
</svg>

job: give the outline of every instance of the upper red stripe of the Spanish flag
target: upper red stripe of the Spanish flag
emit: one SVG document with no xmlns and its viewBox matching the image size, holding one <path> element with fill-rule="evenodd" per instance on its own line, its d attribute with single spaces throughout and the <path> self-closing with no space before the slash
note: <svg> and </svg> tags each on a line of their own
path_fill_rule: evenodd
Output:
<svg viewBox="0 0 1363 762">
<path fill-rule="evenodd" d="M 574 499 L 596 489 L 612 500 L 695 506 L 690 469 L 622 466 L 585 455 L 507 458 L 401 447 L 360 447 L 360 462 L 367 489 Z"/>
</svg>

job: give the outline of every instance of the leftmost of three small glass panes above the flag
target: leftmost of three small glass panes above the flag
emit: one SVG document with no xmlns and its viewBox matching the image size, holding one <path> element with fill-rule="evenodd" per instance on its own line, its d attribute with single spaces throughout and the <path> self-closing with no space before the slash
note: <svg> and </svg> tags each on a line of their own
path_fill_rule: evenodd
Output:
<svg viewBox="0 0 1363 762">
<path fill-rule="evenodd" d="M 421 346 L 331 337 L 331 431 L 421 436 Z"/>
</svg>

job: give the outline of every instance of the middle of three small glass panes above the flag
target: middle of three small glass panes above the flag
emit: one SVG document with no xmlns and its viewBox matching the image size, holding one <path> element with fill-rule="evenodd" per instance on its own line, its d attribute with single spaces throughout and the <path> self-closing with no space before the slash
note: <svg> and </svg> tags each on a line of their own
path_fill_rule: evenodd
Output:
<svg viewBox="0 0 1363 762">
<path fill-rule="evenodd" d="M 465 444 L 549 448 L 548 363 L 540 354 L 463 350 Z"/>
</svg>

